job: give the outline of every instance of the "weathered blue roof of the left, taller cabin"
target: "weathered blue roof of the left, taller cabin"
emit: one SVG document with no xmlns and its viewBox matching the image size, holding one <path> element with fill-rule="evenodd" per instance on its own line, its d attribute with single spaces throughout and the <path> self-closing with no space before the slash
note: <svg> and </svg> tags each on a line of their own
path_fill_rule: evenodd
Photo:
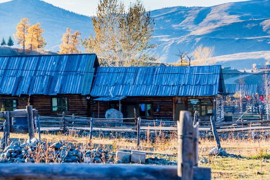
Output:
<svg viewBox="0 0 270 180">
<path fill-rule="evenodd" d="M 95 54 L 0 56 L 0 94 L 89 94 Z"/>
</svg>

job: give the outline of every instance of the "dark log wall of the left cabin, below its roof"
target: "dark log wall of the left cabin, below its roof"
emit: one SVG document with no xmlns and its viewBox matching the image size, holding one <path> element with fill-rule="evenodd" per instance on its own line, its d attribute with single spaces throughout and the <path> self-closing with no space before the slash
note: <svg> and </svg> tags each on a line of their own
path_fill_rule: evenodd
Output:
<svg viewBox="0 0 270 180">
<path fill-rule="evenodd" d="M 67 97 L 68 111 L 67 114 L 75 114 L 79 116 L 91 116 L 92 115 L 92 100 L 87 99 L 86 95 L 80 94 L 58 94 L 58 95 L 0 95 L 0 98 L 17 99 L 17 108 L 25 109 L 28 104 L 38 110 L 40 115 L 56 115 L 62 113 L 62 111 L 52 111 L 51 98 L 52 97 Z"/>
</svg>

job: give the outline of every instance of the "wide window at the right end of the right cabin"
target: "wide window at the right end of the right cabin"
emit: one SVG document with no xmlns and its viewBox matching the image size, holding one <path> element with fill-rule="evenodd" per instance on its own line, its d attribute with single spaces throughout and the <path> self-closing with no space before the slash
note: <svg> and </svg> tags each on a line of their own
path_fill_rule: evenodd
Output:
<svg viewBox="0 0 270 180">
<path fill-rule="evenodd" d="M 198 116 L 213 115 L 213 99 L 187 99 L 187 109 L 191 115 L 195 110 Z"/>
</svg>

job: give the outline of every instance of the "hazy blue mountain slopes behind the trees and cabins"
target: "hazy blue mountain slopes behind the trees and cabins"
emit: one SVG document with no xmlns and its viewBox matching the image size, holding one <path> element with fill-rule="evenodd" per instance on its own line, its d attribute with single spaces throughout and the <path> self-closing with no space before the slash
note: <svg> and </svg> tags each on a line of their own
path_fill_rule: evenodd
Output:
<svg viewBox="0 0 270 180">
<path fill-rule="evenodd" d="M 191 53 L 199 44 L 214 46 L 217 63 L 226 66 L 251 68 L 253 63 L 269 60 L 270 0 L 211 7 L 176 6 L 153 10 L 151 15 L 155 20 L 152 42 L 159 44 L 152 53 L 163 62 L 177 61 L 177 49 Z M 0 37 L 7 39 L 15 33 L 23 17 L 29 18 L 31 24 L 40 22 L 45 30 L 45 48 L 54 51 L 59 50 L 66 27 L 80 31 L 82 38 L 93 33 L 91 17 L 41 0 L 12 0 L 0 3 Z"/>
</svg>

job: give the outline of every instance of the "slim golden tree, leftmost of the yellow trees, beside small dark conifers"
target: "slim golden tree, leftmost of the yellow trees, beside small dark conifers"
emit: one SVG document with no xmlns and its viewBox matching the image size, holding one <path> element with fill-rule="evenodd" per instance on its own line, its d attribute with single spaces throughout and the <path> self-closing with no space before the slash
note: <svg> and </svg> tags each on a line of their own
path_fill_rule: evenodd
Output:
<svg viewBox="0 0 270 180">
<path fill-rule="evenodd" d="M 30 26 L 28 21 L 29 21 L 29 19 L 27 19 L 27 18 L 20 19 L 20 22 L 16 26 L 17 32 L 16 32 L 16 34 L 13 34 L 15 40 L 18 40 L 18 44 L 20 44 L 20 46 L 23 47 L 23 53 L 24 53 L 26 34 L 27 34 L 28 28 Z"/>
</svg>

